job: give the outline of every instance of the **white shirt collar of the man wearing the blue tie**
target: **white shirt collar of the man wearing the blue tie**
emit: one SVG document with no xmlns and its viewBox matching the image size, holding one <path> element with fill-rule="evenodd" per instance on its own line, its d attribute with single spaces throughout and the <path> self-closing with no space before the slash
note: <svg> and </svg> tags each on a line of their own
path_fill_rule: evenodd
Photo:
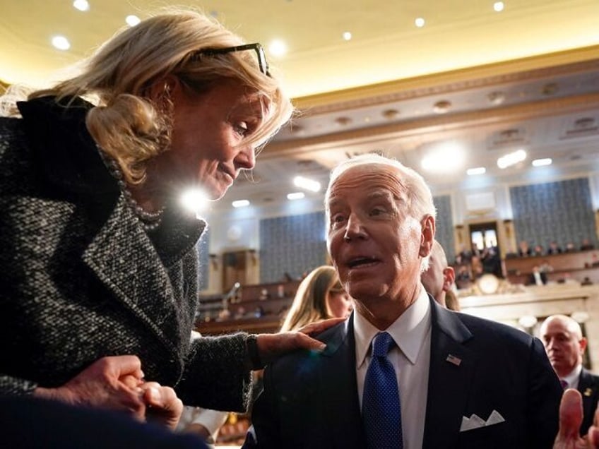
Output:
<svg viewBox="0 0 599 449">
<path fill-rule="evenodd" d="M 430 302 L 425 288 L 420 285 L 420 294 L 416 301 L 406 309 L 396 321 L 386 328 L 401 352 L 410 361 L 416 363 L 422 343 L 430 328 L 431 323 Z M 370 349 L 374 335 L 381 332 L 372 325 L 364 316 L 353 314 L 354 337 L 356 344 L 356 366 L 360 368 Z"/>
</svg>

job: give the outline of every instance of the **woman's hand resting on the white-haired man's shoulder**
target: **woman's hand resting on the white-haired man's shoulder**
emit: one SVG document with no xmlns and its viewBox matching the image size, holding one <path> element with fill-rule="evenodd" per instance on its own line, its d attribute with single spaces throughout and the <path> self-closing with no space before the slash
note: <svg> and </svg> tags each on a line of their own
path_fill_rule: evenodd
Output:
<svg viewBox="0 0 599 449">
<path fill-rule="evenodd" d="M 322 351 L 326 347 L 323 342 L 314 340 L 309 335 L 316 335 L 332 326 L 343 323 L 347 318 L 330 318 L 305 325 L 297 332 L 283 332 L 277 334 L 259 334 L 256 344 L 263 364 L 268 364 L 277 357 L 295 349 L 312 349 Z"/>
</svg>

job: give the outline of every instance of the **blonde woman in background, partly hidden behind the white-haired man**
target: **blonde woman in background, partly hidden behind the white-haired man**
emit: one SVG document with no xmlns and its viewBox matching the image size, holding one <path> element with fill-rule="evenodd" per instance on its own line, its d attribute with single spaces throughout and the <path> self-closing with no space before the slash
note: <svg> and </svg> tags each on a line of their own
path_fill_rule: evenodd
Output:
<svg viewBox="0 0 599 449">
<path fill-rule="evenodd" d="M 352 309 L 352 299 L 341 287 L 335 268 L 323 265 L 299 284 L 281 331 L 298 330 L 326 318 L 346 318 Z"/>
</svg>

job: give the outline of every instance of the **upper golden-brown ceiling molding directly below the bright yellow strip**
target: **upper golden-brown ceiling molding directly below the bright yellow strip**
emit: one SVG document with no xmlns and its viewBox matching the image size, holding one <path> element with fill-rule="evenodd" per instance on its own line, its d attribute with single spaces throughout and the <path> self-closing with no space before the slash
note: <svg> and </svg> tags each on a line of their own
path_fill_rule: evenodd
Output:
<svg viewBox="0 0 599 449">
<path fill-rule="evenodd" d="M 599 45 L 294 99 L 309 115 L 599 69 Z"/>
</svg>

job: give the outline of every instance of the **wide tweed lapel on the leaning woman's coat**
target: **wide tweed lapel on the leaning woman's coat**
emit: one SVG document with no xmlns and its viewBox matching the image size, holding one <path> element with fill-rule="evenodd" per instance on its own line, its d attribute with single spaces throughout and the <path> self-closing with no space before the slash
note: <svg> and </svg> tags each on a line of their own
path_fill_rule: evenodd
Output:
<svg viewBox="0 0 599 449">
<path fill-rule="evenodd" d="M 179 340 L 177 308 L 170 278 L 162 263 L 156 262 L 158 259 L 123 195 L 83 253 L 83 261 L 114 296 L 166 347 L 176 351 L 173 342 Z"/>
</svg>

